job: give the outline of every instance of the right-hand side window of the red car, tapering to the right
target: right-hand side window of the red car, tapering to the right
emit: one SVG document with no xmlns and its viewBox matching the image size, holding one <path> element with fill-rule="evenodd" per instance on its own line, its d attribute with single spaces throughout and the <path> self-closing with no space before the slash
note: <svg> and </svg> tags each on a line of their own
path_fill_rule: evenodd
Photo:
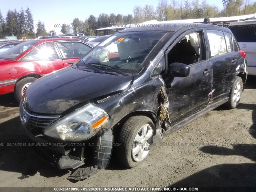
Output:
<svg viewBox="0 0 256 192">
<path fill-rule="evenodd" d="M 63 58 L 80 58 L 91 50 L 89 46 L 81 42 L 58 42 L 56 45 Z"/>
</svg>

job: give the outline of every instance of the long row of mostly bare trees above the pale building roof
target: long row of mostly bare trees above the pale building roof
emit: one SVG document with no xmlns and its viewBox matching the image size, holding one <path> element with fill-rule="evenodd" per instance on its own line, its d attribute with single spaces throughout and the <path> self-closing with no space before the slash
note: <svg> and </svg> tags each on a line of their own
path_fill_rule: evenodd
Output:
<svg viewBox="0 0 256 192">
<path fill-rule="evenodd" d="M 98 18 L 90 15 L 85 21 L 74 18 L 72 22 L 72 30 L 74 32 L 83 32 L 84 34 L 94 35 L 95 29 L 110 27 L 120 24 L 135 24 L 149 20 L 181 20 L 195 18 L 214 18 L 239 16 L 246 14 L 254 14 L 256 12 L 256 2 L 249 3 L 249 0 L 222 0 L 223 8 L 220 10 L 216 5 L 210 5 L 206 0 L 158 0 L 158 6 L 154 8 L 152 5 L 144 7 L 135 6 L 133 15 L 114 13 L 100 14 Z M 65 33 L 67 28 L 62 25 L 62 32 Z M 102 35 L 99 32 L 98 35 Z"/>
</svg>

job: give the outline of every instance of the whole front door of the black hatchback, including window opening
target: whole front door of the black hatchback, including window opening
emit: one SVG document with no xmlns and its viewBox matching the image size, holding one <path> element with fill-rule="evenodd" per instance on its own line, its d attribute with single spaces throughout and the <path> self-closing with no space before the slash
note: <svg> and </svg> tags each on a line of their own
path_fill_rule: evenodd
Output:
<svg viewBox="0 0 256 192">
<path fill-rule="evenodd" d="M 190 66 L 188 77 L 166 80 L 168 110 L 173 125 L 208 106 L 212 91 L 212 64 L 206 60 L 205 50 L 203 31 L 196 30 L 179 37 L 166 52 L 168 67 L 174 62 Z"/>
</svg>

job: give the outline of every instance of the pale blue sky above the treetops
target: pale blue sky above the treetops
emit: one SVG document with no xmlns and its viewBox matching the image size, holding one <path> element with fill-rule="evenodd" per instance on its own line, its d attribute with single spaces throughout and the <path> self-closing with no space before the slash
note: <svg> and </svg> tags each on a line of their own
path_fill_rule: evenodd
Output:
<svg viewBox="0 0 256 192">
<path fill-rule="evenodd" d="M 168 4 L 170 2 L 171 0 L 167 0 Z M 222 0 L 207 0 L 207 2 L 210 5 L 218 6 L 220 9 L 223 7 Z M 38 20 L 41 20 L 47 31 L 60 31 L 60 28 L 54 28 L 55 24 L 72 24 L 76 17 L 84 21 L 91 14 L 95 17 L 102 13 L 133 15 L 134 6 L 144 7 L 146 4 L 156 8 L 158 0 L 5 0 L 1 2 L 0 10 L 3 17 L 6 18 L 8 10 L 16 8 L 17 11 L 20 11 L 21 7 L 24 10 L 29 7 L 34 18 L 34 25 L 38 23 Z"/>
</svg>

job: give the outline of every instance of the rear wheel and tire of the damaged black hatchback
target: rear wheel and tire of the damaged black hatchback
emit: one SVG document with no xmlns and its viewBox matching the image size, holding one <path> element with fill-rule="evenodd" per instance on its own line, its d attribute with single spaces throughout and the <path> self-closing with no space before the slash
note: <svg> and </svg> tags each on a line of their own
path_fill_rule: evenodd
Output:
<svg viewBox="0 0 256 192">
<path fill-rule="evenodd" d="M 226 103 L 227 108 L 234 109 L 238 105 L 242 96 L 243 81 L 240 77 L 236 76 L 236 80 L 231 86 L 228 102 Z"/>
</svg>

